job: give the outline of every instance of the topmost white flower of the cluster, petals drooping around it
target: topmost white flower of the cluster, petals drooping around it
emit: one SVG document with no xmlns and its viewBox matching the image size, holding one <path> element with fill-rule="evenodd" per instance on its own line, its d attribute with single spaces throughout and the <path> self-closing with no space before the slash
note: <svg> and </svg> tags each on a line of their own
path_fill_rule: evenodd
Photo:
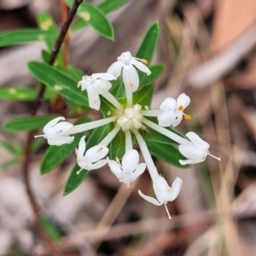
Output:
<svg viewBox="0 0 256 256">
<path fill-rule="evenodd" d="M 108 73 L 112 73 L 114 77 L 118 78 L 121 70 L 123 69 L 123 80 L 126 90 L 136 91 L 139 85 L 139 77 L 135 67 L 149 75 L 151 71 L 145 64 L 143 64 L 143 62 L 147 62 L 145 60 L 132 57 L 130 51 L 122 53 L 117 59 L 118 61 L 108 67 Z"/>
</svg>

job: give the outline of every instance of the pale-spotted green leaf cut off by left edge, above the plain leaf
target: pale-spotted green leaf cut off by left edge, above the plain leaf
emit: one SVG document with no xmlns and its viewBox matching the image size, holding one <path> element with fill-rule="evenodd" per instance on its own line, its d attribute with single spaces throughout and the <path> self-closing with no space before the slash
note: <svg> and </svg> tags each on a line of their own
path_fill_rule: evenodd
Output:
<svg viewBox="0 0 256 256">
<path fill-rule="evenodd" d="M 0 89 L 0 99 L 9 101 L 33 101 L 38 95 L 37 90 L 29 88 L 3 88 Z"/>
</svg>

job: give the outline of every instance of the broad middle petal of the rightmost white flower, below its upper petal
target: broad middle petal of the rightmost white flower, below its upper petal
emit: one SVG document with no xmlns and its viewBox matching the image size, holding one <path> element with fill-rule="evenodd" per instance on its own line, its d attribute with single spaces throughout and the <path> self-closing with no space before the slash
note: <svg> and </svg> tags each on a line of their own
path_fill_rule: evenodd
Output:
<svg viewBox="0 0 256 256">
<path fill-rule="evenodd" d="M 207 151 L 204 148 L 198 148 L 192 143 L 179 145 L 178 150 L 183 156 L 193 160 L 201 160 L 207 157 Z"/>
</svg>

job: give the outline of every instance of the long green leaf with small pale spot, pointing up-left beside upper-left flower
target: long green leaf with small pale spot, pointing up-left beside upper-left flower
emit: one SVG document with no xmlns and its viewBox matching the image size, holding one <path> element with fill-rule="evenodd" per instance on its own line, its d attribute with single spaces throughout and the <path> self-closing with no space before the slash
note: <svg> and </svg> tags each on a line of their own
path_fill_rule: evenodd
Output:
<svg viewBox="0 0 256 256">
<path fill-rule="evenodd" d="M 49 86 L 51 90 L 65 97 L 68 101 L 89 108 L 87 95 L 77 88 L 78 81 L 62 72 L 57 67 L 46 63 L 31 61 L 28 68 L 36 79 Z"/>
</svg>

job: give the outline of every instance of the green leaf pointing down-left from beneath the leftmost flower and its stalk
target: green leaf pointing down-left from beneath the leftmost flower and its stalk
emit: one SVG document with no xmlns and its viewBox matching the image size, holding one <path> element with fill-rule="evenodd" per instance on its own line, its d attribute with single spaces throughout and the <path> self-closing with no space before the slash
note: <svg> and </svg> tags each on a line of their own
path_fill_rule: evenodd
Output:
<svg viewBox="0 0 256 256">
<path fill-rule="evenodd" d="M 74 125 L 83 124 L 89 122 L 88 117 L 83 117 L 75 122 Z M 74 149 L 78 146 L 80 138 L 84 135 L 83 132 L 75 134 L 73 143 L 58 146 L 49 146 L 44 153 L 43 160 L 41 162 L 40 170 L 41 174 L 52 171 L 56 166 L 59 166 L 67 157 L 74 152 Z"/>
</svg>

